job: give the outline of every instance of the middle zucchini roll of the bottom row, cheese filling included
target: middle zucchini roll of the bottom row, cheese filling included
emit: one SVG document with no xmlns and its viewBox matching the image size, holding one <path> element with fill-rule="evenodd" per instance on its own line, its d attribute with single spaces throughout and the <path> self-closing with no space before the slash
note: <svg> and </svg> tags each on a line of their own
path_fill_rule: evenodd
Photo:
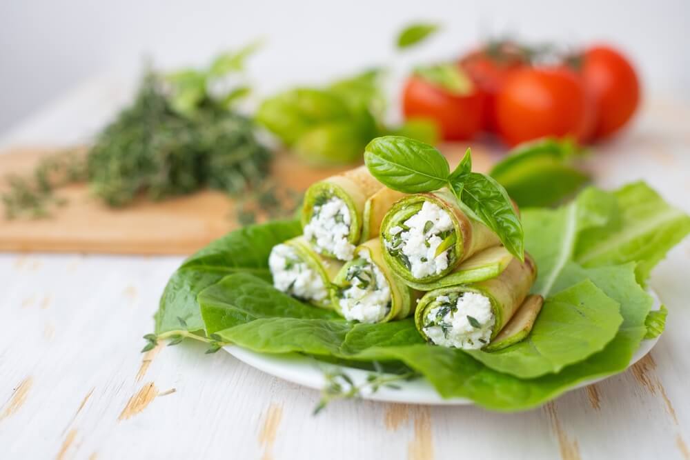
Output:
<svg viewBox="0 0 690 460">
<path fill-rule="evenodd" d="M 379 239 L 357 246 L 333 280 L 333 307 L 350 321 L 383 323 L 408 317 L 419 294 L 386 265 Z"/>
</svg>

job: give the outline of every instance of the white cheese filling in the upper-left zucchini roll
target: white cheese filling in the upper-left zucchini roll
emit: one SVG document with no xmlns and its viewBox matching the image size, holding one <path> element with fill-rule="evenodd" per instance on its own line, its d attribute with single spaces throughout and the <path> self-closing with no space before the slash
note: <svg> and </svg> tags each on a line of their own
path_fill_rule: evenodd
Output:
<svg viewBox="0 0 690 460">
<path fill-rule="evenodd" d="M 304 226 L 304 236 L 322 254 L 333 254 L 342 261 L 352 260 L 355 245 L 348 241 L 350 210 L 345 201 L 331 197 L 314 206 L 310 221 Z"/>
</svg>

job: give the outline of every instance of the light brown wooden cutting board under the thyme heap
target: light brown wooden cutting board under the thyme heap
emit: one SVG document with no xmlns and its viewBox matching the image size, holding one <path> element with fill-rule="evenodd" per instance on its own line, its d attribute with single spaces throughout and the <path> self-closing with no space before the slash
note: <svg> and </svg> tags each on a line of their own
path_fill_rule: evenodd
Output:
<svg viewBox="0 0 690 460">
<path fill-rule="evenodd" d="M 466 144 L 443 146 L 451 165 Z M 472 145 L 475 170 L 491 164 L 489 150 Z M 27 174 L 55 149 L 22 148 L 0 154 L 0 190 L 6 174 Z M 347 168 L 309 168 L 287 152 L 277 154 L 271 175 L 278 183 L 304 191 L 311 183 Z M 215 190 L 152 203 L 141 199 L 112 209 L 90 197 L 86 184 L 59 188 L 66 206 L 44 219 L 8 220 L 0 215 L 0 251 L 97 252 L 105 254 L 191 254 L 238 228 L 232 199 Z M 0 203 L 0 207 L 1 207 Z"/>
</svg>

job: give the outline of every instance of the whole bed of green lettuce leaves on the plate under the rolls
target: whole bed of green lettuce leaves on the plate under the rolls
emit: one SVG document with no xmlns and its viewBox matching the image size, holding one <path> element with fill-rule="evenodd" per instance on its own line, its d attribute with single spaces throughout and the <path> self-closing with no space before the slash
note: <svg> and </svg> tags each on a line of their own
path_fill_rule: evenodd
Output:
<svg viewBox="0 0 690 460">
<path fill-rule="evenodd" d="M 644 183 L 587 188 L 566 205 L 522 214 L 525 249 L 546 299 L 531 335 L 501 352 L 430 346 L 412 319 L 351 323 L 273 288 L 268 254 L 301 232 L 275 221 L 228 234 L 173 274 L 155 316 L 158 339 L 192 337 L 210 351 L 235 343 L 257 352 L 404 363 L 442 397 L 493 410 L 538 406 L 595 377 L 621 372 L 645 337 L 664 327 L 650 312 L 649 272 L 690 232 L 690 218 Z"/>
</svg>

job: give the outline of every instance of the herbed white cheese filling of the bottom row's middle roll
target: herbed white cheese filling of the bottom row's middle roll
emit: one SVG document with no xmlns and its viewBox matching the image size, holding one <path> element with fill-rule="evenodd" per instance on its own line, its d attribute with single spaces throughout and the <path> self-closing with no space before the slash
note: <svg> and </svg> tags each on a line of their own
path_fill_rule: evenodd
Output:
<svg viewBox="0 0 690 460">
<path fill-rule="evenodd" d="M 348 267 L 350 286 L 340 291 L 338 304 L 345 319 L 377 323 L 391 310 L 391 286 L 366 251 L 359 252 L 356 263 Z"/>
</svg>

